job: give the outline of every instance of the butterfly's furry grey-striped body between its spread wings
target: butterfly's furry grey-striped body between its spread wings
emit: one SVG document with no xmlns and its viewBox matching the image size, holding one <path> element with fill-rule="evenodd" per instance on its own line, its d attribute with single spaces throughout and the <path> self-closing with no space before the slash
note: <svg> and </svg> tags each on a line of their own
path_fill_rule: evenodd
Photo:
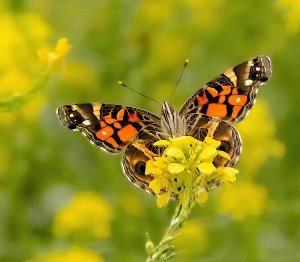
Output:
<svg viewBox="0 0 300 262">
<path fill-rule="evenodd" d="M 166 101 L 161 107 L 161 127 L 164 135 L 184 136 L 185 119 Z"/>
</svg>

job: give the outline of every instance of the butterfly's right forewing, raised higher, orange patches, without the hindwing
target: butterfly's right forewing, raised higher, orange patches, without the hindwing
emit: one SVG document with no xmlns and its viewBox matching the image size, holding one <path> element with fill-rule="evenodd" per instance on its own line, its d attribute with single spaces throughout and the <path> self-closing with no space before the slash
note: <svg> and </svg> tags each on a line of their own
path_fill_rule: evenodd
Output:
<svg viewBox="0 0 300 262">
<path fill-rule="evenodd" d="M 193 95 L 181 115 L 204 114 L 238 123 L 253 107 L 258 88 L 271 77 L 270 58 L 259 56 L 226 70 Z"/>
</svg>

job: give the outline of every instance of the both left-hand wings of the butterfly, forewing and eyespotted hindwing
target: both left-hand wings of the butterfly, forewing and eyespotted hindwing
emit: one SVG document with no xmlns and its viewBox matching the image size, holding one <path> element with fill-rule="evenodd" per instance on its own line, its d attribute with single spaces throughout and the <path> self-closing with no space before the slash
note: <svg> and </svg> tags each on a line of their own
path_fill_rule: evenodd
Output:
<svg viewBox="0 0 300 262">
<path fill-rule="evenodd" d="M 145 166 L 159 150 L 153 146 L 161 132 L 158 116 L 138 108 L 101 103 L 64 105 L 57 114 L 64 126 L 82 132 L 99 148 L 109 153 L 124 151 L 126 177 L 151 191 Z"/>
</svg>

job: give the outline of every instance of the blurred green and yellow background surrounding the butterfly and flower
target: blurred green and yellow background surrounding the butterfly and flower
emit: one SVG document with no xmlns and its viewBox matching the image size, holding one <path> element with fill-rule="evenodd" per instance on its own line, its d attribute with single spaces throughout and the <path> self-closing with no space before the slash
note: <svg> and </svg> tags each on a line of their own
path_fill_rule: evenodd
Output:
<svg viewBox="0 0 300 262">
<path fill-rule="evenodd" d="M 1 1 L 0 260 L 145 261 L 145 233 L 159 241 L 176 202 L 159 209 L 120 156 L 62 127 L 56 108 L 159 114 L 116 83 L 163 101 L 189 58 L 179 109 L 225 69 L 268 55 L 273 77 L 236 126 L 238 181 L 193 210 L 174 261 L 300 261 L 299 13 L 298 0 Z M 61 37 L 72 49 L 45 77 L 37 52 Z"/>
</svg>

